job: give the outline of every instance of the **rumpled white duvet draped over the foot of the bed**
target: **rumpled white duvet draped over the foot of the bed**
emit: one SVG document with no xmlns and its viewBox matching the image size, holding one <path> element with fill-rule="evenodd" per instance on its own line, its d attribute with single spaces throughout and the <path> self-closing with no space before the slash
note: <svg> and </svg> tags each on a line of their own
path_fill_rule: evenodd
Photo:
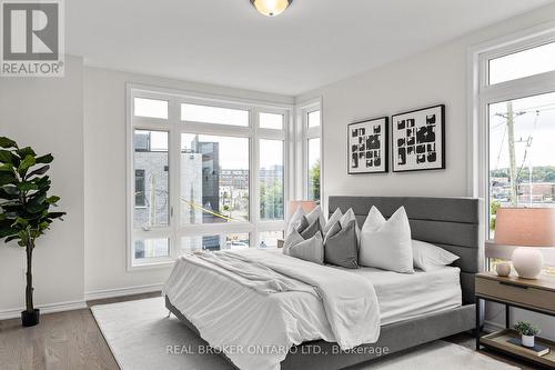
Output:
<svg viewBox="0 0 555 370">
<path fill-rule="evenodd" d="M 380 336 L 373 284 L 347 271 L 250 249 L 188 256 L 163 292 L 240 369 L 279 369 L 294 344 L 347 350 Z"/>
</svg>

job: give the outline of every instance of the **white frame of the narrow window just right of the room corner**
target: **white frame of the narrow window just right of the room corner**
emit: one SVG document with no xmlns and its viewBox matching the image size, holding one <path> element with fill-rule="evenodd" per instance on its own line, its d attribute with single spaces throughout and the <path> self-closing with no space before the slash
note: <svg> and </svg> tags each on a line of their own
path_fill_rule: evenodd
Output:
<svg viewBox="0 0 555 370">
<path fill-rule="evenodd" d="M 320 111 L 320 124 L 309 128 L 309 114 Z M 296 108 L 296 142 L 295 152 L 299 161 L 296 168 L 296 196 L 297 199 L 309 198 L 309 140 L 320 138 L 320 203 L 325 213 L 326 199 L 324 197 L 324 152 L 323 147 L 323 112 L 322 99 L 316 98 L 302 102 Z"/>
</svg>

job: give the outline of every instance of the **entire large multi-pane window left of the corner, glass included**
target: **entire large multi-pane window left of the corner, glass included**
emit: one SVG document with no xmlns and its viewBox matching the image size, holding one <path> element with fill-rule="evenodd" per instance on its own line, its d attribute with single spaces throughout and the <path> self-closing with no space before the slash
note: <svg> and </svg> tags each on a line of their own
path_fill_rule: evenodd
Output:
<svg viewBox="0 0 555 370">
<path fill-rule="evenodd" d="M 128 89 L 128 268 L 198 249 L 275 246 L 290 108 Z"/>
</svg>

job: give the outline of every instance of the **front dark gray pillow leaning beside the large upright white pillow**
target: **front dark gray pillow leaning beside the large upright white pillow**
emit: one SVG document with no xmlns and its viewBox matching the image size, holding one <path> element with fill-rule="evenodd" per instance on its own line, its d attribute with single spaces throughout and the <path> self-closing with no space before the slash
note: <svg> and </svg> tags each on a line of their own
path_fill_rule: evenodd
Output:
<svg viewBox="0 0 555 370">
<path fill-rule="evenodd" d="M 356 221 L 351 221 L 324 244 L 324 262 L 347 269 L 359 268 Z"/>
</svg>

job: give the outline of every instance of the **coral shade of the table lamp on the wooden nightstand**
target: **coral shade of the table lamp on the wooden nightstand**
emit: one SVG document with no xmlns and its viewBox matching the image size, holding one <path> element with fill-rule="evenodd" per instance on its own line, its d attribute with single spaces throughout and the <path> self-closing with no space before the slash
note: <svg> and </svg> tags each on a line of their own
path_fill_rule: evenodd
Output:
<svg viewBox="0 0 555 370">
<path fill-rule="evenodd" d="M 495 219 L 495 243 L 555 247 L 555 208 L 500 208 Z"/>
</svg>

